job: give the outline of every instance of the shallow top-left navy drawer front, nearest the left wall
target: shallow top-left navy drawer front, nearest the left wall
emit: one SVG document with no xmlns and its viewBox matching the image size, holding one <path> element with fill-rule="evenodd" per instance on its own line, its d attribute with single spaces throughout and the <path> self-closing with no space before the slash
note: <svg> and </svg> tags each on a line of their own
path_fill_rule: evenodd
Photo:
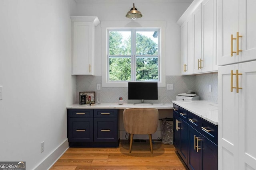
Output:
<svg viewBox="0 0 256 170">
<path fill-rule="evenodd" d="M 93 109 L 68 109 L 68 117 L 93 117 Z"/>
</svg>

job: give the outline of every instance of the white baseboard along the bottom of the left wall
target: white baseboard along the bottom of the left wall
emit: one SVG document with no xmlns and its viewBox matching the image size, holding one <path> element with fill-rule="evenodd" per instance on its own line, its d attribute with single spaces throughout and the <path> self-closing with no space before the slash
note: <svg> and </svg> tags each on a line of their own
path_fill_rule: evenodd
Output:
<svg viewBox="0 0 256 170">
<path fill-rule="evenodd" d="M 49 154 L 34 170 L 48 170 L 69 148 L 68 139 L 60 144 L 51 154 Z"/>
</svg>

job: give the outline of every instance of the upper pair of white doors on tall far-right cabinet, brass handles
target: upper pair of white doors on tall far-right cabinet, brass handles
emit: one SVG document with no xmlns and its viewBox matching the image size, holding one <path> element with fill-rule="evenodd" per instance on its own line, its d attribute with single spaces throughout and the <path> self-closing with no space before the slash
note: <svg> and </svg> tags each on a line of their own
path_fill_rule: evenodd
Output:
<svg viewBox="0 0 256 170">
<path fill-rule="evenodd" d="M 219 65 L 256 59 L 255 9 L 255 0 L 218 0 Z"/>
</svg>

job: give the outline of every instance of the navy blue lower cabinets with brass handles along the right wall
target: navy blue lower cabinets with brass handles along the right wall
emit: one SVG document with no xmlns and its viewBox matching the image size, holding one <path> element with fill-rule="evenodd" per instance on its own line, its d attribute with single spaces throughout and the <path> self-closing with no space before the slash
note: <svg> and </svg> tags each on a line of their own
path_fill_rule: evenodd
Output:
<svg viewBox="0 0 256 170">
<path fill-rule="evenodd" d="M 190 170 L 218 170 L 218 126 L 174 106 L 173 145 L 182 160 Z"/>
</svg>

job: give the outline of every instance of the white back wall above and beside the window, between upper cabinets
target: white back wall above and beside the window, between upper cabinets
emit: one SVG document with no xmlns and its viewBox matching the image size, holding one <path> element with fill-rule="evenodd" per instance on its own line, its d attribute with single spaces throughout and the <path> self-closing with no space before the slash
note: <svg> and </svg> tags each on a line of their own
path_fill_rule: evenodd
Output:
<svg viewBox="0 0 256 170">
<path fill-rule="evenodd" d="M 100 21 L 132 21 L 125 17 L 132 3 L 80 3 L 76 16 L 98 16 Z M 180 75 L 180 26 L 176 21 L 190 3 L 135 3 L 142 13 L 140 21 L 166 21 L 166 76 Z M 156 13 L 155 13 L 156 12 Z M 101 27 L 96 27 L 96 75 L 102 75 Z"/>
</svg>

